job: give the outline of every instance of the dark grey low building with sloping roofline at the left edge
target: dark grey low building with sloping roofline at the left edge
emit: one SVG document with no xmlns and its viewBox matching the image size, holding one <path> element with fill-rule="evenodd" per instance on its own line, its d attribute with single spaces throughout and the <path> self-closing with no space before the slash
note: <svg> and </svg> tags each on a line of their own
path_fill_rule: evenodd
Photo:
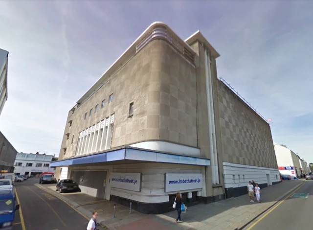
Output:
<svg viewBox="0 0 313 230">
<path fill-rule="evenodd" d="M 0 132 L 0 171 L 13 172 L 17 151 Z"/>
</svg>

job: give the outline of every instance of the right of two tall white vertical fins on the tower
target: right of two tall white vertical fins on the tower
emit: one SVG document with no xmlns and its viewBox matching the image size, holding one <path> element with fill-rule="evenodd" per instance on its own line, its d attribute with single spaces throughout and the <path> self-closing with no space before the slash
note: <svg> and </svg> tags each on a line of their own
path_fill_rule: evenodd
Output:
<svg viewBox="0 0 313 230">
<path fill-rule="evenodd" d="M 213 104 L 213 87 L 212 87 L 212 75 L 211 75 L 211 60 L 210 54 L 208 55 L 208 77 L 209 77 L 209 92 L 210 92 L 210 119 L 212 125 L 212 139 L 213 139 L 213 154 L 214 154 L 214 165 L 215 165 L 215 176 L 216 183 L 219 184 L 219 164 L 217 160 L 217 147 L 216 147 L 216 132 L 215 132 L 215 116 L 214 116 L 214 104 Z"/>
</svg>

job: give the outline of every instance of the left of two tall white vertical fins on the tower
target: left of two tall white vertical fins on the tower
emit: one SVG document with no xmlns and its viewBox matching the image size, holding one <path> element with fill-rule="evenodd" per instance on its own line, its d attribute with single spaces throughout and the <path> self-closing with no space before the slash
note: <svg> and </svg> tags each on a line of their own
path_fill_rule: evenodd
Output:
<svg viewBox="0 0 313 230">
<path fill-rule="evenodd" d="M 205 68 L 205 88 L 206 88 L 206 103 L 207 103 L 207 116 L 208 116 L 208 126 L 209 126 L 209 139 L 210 139 L 210 156 L 211 156 L 211 169 L 212 169 L 212 183 L 216 184 L 215 176 L 215 164 L 214 164 L 214 150 L 213 150 L 213 136 L 212 136 L 212 125 L 210 119 L 210 96 L 209 96 L 209 72 L 208 72 L 208 60 L 207 60 L 207 50 L 205 49 L 204 54 L 204 68 Z"/>
</svg>

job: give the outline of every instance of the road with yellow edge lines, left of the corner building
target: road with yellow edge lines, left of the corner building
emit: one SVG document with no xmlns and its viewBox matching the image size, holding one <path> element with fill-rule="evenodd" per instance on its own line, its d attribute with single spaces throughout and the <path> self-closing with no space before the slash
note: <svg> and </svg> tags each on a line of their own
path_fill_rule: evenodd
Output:
<svg viewBox="0 0 313 230">
<path fill-rule="evenodd" d="M 15 183 L 20 211 L 16 212 L 13 230 L 86 229 L 89 220 L 34 184 L 38 179 Z"/>
</svg>

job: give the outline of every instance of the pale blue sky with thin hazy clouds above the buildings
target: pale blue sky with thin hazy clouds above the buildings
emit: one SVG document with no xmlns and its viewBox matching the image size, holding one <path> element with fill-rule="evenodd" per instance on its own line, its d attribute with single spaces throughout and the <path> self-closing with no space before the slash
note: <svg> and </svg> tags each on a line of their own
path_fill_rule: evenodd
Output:
<svg viewBox="0 0 313 230">
<path fill-rule="evenodd" d="M 58 155 L 68 111 L 161 21 L 182 39 L 200 30 L 221 54 L 218 76 L 272 119 L 273 141 L 313 162 L 312 12 L 309 0 L 1 0 L 0 130 L 19 152 Z"/>
</svg>

